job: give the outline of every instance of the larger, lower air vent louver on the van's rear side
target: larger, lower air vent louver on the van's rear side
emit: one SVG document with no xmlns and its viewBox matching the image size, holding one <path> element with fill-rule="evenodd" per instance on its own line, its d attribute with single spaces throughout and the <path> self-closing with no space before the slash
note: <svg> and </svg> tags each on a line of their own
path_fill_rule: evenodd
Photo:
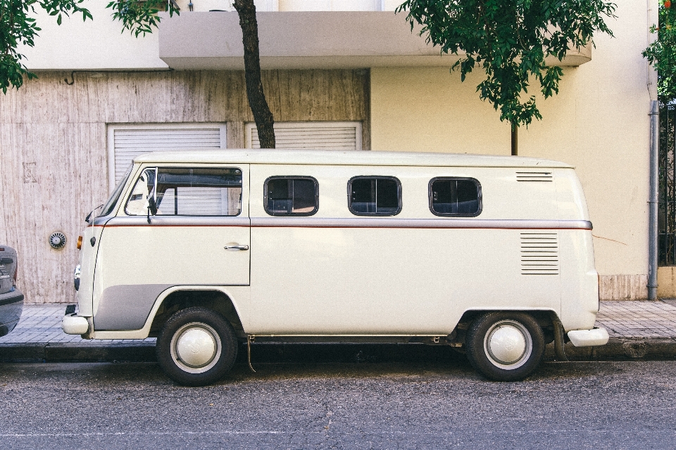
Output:
<svg viewBox="0 0 676 450">
<path fill-rule="evenodd" d="M 521 274 L 558 275 L 557 233 L 521 233 Z"/>
</svg>

